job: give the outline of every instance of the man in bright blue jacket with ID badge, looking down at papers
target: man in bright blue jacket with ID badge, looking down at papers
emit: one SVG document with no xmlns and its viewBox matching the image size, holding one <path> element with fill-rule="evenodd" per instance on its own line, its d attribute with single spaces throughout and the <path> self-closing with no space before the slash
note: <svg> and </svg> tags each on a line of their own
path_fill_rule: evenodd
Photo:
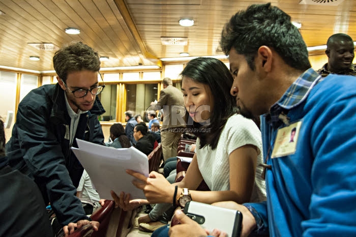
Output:
<svg viewBox="0 0 356 237">
<path fill-rule="evenodd" d="M 241 236 L 356 236 L 354 77 L 322 78 L 311 69 L 300 32 L 271 4 L 232 16 L 220 46 L 229 55 L 231 94 L 241 113 L 263 114 L 267 200 L 218 204 L 243 213 Z M 188 222 L 172 227 L 170 236 L 192 230 Z"/>
</svg>

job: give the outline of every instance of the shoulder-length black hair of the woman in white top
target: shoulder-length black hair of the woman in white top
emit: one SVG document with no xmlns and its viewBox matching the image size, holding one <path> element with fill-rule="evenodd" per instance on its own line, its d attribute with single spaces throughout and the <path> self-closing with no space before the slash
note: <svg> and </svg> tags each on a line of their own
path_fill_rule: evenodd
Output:
<svg viewBox="0 0 356 237">
<path fill-rule="evenodd" d="M 214 98 L 214 110 L 211 111 L 210 124 L 201 125 L 193 122 L 188 128 L 212 128 L 211 132 L 194 132 L 200 139 L 200 147 L 211 145 L 213 149 L 218 141 L 223 127 L 228 118 L 238 111 L 235 98 L 230 95 L 233 77 L 226 65 L 212 57 L 197 57 L 190 61 L 181 73 L 183 77 L 189 77 L 195 82 L 209 85 Z M 186 117 L 188 111 L 186 111 Z"/>
</svg>

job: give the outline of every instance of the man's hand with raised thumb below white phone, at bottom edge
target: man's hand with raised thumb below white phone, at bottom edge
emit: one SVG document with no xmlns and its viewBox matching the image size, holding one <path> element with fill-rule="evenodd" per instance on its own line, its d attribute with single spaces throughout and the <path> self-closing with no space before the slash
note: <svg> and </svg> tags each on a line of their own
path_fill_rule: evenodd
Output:
<svg viewBox="0 0 356 237">
<path fill-rule="evenodd" d="M 213 229 L 211 233 L 209 230 L 204 230 L 198 223 L 186 216 L 182 210 L 175 211 L 174 215 L 181 224 L 169 228 L 168 235 L 170 237 L 200 237 L 208 234 L 216 237 L 226 237 L 226 233 L 218 229 Z"/>
</svg>

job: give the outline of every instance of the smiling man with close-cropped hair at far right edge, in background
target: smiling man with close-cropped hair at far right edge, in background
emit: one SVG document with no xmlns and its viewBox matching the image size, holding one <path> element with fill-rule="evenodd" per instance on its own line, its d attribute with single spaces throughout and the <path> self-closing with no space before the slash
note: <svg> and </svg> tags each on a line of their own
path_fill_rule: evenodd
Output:
<svg viewBox="0 0 356 237">
<path fill-rule="evenodd" d="M 328 63 L 318 70 L 322 77 L 330 73 L 356 76 L 356 69 L 352 64 L 354 45 L 350 36 L 339 33 L 329 37 L 325 54 L 328 56 Z"/>
</svg>

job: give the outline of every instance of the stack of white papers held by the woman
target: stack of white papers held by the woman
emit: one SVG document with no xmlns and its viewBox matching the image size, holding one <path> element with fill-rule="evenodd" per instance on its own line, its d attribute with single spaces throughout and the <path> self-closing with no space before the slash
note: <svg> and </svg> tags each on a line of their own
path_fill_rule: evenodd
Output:
<svg viewBox="0 0 356 237">
<path fill-rule="evenodd" d="M 133 176 L 126 173 L 132 169 L 149 176 L 149 160 L 145 154 L 131 146 L 115 149 L 104 145 L 76 139 L 79 148 L 72 147 L 74 154 L 89 174 L 100 198 L 110 199 L 110 190 L 117 195 L 124 191 L 131 199 L 145 199 L 143 191 L 131 182 Z"/>
</svg>

